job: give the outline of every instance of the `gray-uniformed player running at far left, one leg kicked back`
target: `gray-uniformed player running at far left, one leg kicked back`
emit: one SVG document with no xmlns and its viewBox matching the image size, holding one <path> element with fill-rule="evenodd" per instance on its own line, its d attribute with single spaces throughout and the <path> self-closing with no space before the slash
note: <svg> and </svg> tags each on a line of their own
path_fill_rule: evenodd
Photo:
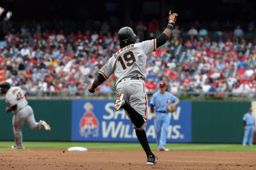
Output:
<svg viewBox="0 0 256 170">
<path fill-rule="evenodd" d="M 24 122 L 27 123 L 30 129 L 39 130 L 45 129 L 50 131 L 51 127 L 45 121 L 35 121 L 33 109 L 28 105 L 27 95 L 19 87 L 10 87 L 8 82 L 0 83 L 0 88 L 2 94 L 5 95 L 5 101 L 10 107 L 6 107 L 6 113 L 13 112 L 12 117 L 12 126 L 15 136 L 15 146 L 12 146 L 13 149 L 25 149 L 22 144 L 22 126 Z"/>
</svg>

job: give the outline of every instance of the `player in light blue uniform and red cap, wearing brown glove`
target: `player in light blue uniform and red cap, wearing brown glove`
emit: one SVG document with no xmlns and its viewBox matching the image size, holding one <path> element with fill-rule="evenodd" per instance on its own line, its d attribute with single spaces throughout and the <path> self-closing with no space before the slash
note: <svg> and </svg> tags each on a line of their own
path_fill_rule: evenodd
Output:
<svg viewBox="0 0 256 170">
<path fill-rule="evenodd" d="M 165 148 L 167 130 L 170 125 L 170 116 L 167 110 L 169 105 L 177 106 L 179 99 L 170 92 L 166 92 L 166 83 L 164 81 L 159 83 L 160 91 L 156 92 L 150 103 L 152 118 L 154 119 L 156 142 L 159 151 L 169 151 Z M 162 129 L 162 131 L 161 131 Z"/>
</svg>

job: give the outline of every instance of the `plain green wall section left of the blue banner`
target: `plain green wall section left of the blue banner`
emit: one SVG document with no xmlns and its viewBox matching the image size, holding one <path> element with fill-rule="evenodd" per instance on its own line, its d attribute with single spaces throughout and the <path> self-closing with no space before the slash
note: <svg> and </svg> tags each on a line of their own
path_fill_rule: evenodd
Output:
<svg viewBox="0 0 256 170">
<path fill-rule="evenodd" d="M 71 139 L 71 102 L 70 100 L 29 100 L 35 119 L 45 120 L 51 125 L 51 132 L 30 130 L 25 123 L 22 129 L 23 140 L 70 141 Z M 0 100 L 0 140 L 13 140 L 12 116 L 5 113 L 7 104 Z"/>
</svg>

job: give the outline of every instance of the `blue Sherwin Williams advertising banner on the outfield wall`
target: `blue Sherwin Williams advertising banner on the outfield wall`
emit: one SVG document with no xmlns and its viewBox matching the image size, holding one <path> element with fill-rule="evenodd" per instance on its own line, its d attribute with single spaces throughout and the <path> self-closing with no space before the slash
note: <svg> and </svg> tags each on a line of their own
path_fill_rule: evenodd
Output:
<svg viewBox="0 0 256 170">
<path fill-rule="evenodd" d="M 114 111 L 114 102 L 115 100 L 72 100 L 71 140 L 137 142 L 133 124 L 123 109 Z M 156 142 L 154 121 L 150 109 L 147 110 L 148 141 Z M 180 101 L 170 117 L 167 142 L 191 142 L 191 101 Z"/>
</svg>

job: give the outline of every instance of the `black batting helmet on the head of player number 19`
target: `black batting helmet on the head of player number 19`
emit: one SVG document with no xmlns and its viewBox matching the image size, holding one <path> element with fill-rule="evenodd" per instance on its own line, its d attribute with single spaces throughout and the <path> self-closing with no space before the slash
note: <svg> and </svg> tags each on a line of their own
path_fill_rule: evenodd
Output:
<svg viewBox="0 0 256 170">
<path fill-rule="evenodd" d="M 123 48 L 129 44 L 136 43 L 136 35 L 130 27 L 123 27 L 118 31 L 120 47 Z"/>
</svg>

